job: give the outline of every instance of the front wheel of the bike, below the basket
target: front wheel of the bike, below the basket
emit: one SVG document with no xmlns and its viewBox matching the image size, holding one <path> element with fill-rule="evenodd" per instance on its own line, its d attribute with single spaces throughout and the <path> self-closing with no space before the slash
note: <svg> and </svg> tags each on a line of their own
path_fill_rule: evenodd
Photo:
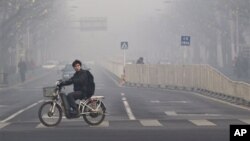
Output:
<svg viewBox="0 0 250 141">
<path fill-rule="evenodd" d="M 48 101 L 39 108 L 38 117 L 43 125 L 48 127 L 56 126 L 62 120 L 62 109 L 56 104 L 53 110 L 53 102 Z"/>
</svg>

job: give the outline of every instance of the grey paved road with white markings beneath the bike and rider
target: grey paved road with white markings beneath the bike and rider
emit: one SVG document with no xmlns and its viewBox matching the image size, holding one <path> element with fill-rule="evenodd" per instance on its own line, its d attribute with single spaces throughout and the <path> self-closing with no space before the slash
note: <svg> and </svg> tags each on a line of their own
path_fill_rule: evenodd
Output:
<svg viewBox="0 0 250 141">
<path fill-rule="evenodd" d="M 228 141 L 230 124 L 250 124 L 250 110 L 199 94 L 156 88 L 120 87 L 115 77 L 93 67 L 96 95 L 105 96 L 105 121 L 89 126 L 81 118 L 57 127 L 40 124 L 42 87 L 60 79 L 56 71 L 0 90 L 0 141 L 44 140 L 186 140 Z M 70 91 L 69 87 L 65 91 Z"/>
</svg>

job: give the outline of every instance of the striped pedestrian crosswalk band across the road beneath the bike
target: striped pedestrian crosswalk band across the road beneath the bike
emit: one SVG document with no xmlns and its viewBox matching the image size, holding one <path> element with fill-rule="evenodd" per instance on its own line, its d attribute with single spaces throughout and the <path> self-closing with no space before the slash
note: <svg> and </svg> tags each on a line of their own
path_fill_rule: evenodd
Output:
<svg viewBox="0 0 250 141">
<path fill-rule="evenodd" d="M 207 120 L 207 119 L 177 119 L 176 121 L 174 121 L 174 124 L 169 124 L 171 122 L 173 122 L 173 120 L 159 120 L 159 119 L 139 119 L 139 120 L 134 120 L 133 123 L 137 122 L 138 124 L 135 124 L 137 126 L 140 126 L 140 127 L 161 127 L 161 128 L 172 128 L 173 126 L 174 127 L 182 127 L 183 124 L 186 124 L 190 127 L 195 127 L 195 126 L 199 126 L 199 127 L 202 127 L 202 126 L 208 126 L 208 127 L 228 127 L 228 125 L 231 125 L 231 124 L 236 124 L 238 123 L 239 121 L 243 122 L 243 123 L 246 123 L 246 124 L 250 124 L 250 119 L 234 119 L 232 121 L 232 119 L 224 119 L 224 120 L 221 120 L 221 119 L 218 119 L 217 121 L 215 121 L 216 119 L 213 119 L 213 122 L 210 121 L 210 120 Z M 66 122 L 65 122 L 66 121 Z M 62 121 L 59 126 L 60 128 L 64 128 L 64 127 L 67 127 L 68 125 L 72 125 L 70 127 L 83 127 L 83 128 L 86 128 L 86 127 L 91 127 L 91 128 L 109 128 L 109 127 L 117 127 L 117 120 L 105 120 L 103 121 L 100 125 L 96 125 L 96 126 L 89 126 L 87 123 L 86 123 L 86 126 L 82 126 L 82 122 L 84 122 L 82 119 L 72 119 L 72 120 L 65 120 L 65 121 Z M 123 122 L 123 123 L 130 123 L 131 120 L 120 120 L 120 122 Z M 226 124 L 225 124 L 226 122 Z M 55 127 L 46 127 L 44 126 L 42 123 L 40 122 L 37 122 L 37 121 L 34 121 L 34 122 L 23 122 L 22 125 L 25 125 L 26 123 L 29 123 L 29 125 L 33 125 L 32 127 L 29 126 L 28 128 L 35 128 L 35 129 L 46 129 L 46 128 L 56 128 L 57 126 Z M 191 124 L 190 124 L 191 123 Z M 220 123 L 223 123 L 223 124 L 220 124 Z M 11 126 L 10 126 L 11 125 Z M 0 131 L 1 129 L 4 129 L 6 127 L 8 127 L 7 129 L 12 129 L 14 128 L 15 129 L 15 125 L 17 125 L 18 127 L 20 126 L 20 122 L 0 122 Z M 120 124 L 118 124 L 120 125 Z M 168 126 L 170 125 L 170 126 Z M 22 126 L 24 127 L 24 126 Z"/>
</svg>

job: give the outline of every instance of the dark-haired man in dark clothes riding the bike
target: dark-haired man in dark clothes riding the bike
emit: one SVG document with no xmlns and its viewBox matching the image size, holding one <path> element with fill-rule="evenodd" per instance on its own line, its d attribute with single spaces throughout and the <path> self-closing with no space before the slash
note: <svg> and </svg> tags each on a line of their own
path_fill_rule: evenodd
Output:
<svg viewBox="0 0 250 141">
<path fill-rule="evenodd" d="M 88 99 L 93 95 L 93 93 L 90 93 L 88 90 L 88 87 L 89 87 L 88 74 L 90 72 L 88 72 L 88 70 L 82 69 L 82 63 L 79 60 L 75 60 L 72 63 L 72 67 L 76 71 L 74 75 L 68 80 L 61 81 L 58 84 L 58 86 L 62 87 L 62 86 L 71 85 L 71 84 L 74 85 L 74 91 L 67 95 L 67 99 L 68 99 L 70 107 L 72 108 L 70 110 L 70 114 L 78 115 L 78 109 L 77 109 L 78 107 L 75 101 L 78 99 Z"/>
</svg>

